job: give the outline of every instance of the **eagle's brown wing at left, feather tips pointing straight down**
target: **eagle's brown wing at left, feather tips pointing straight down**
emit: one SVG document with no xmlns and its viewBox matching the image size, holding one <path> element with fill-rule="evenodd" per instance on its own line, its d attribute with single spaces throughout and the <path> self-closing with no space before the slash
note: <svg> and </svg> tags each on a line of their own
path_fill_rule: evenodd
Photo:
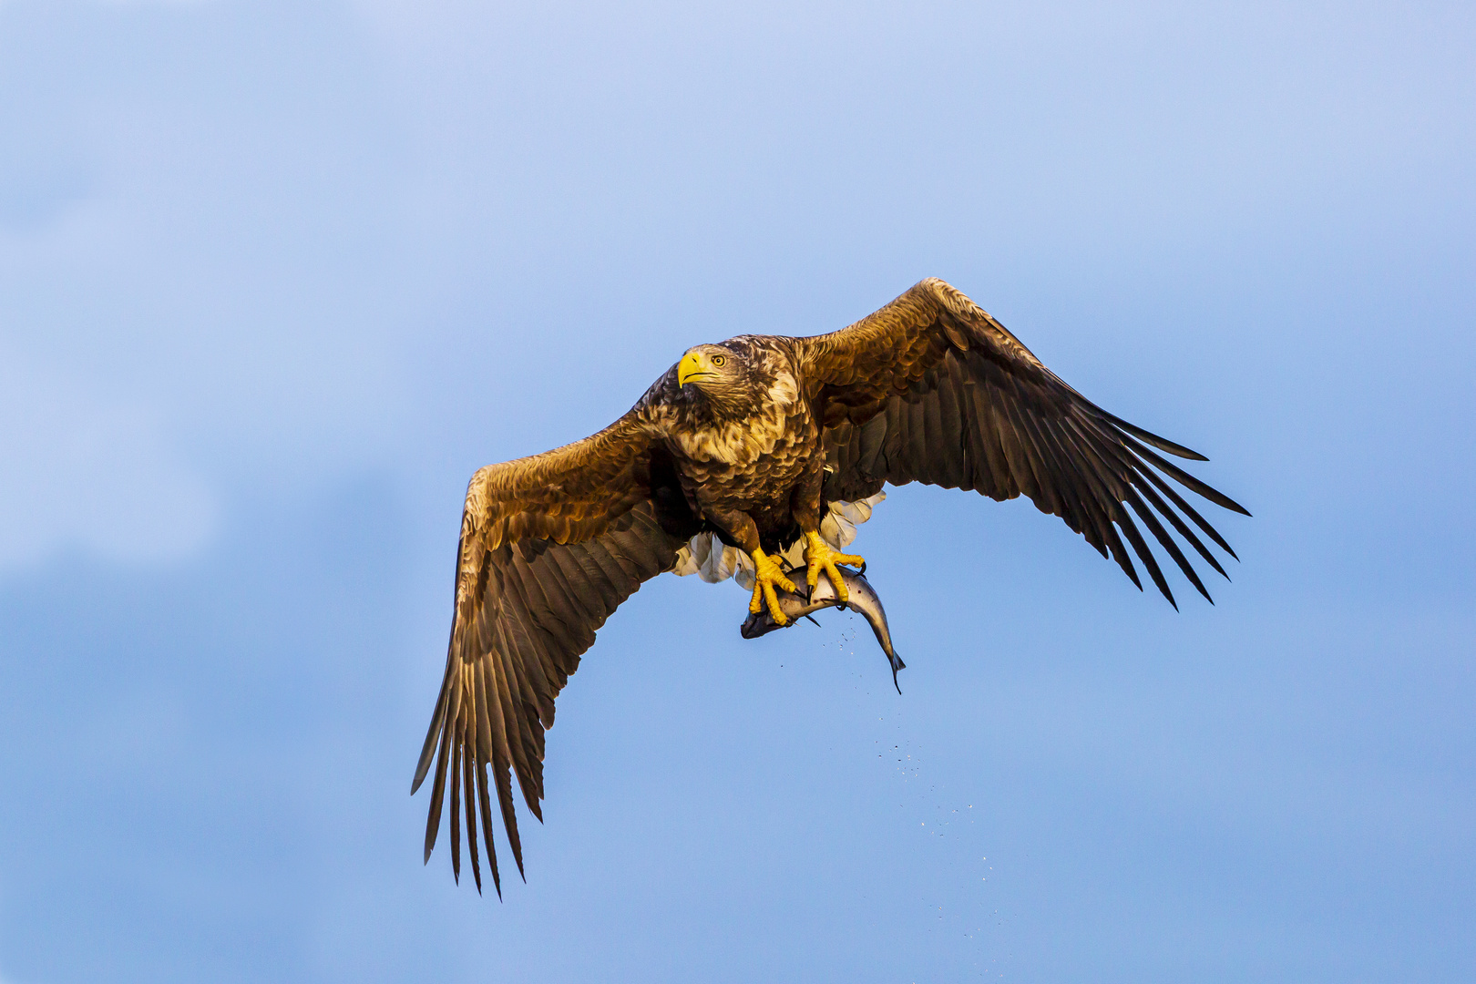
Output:
<svg viewBox="0 0 1476 984">
<path fill-rule="evenodd" d="M 449 785 L 452 869 L 459 879 L 465 804 L 478 891 L 480 816 L 487 863 L 502 894 L 489 767 L 521 873 L 508 770 L 517 773 L 524 803 L 542 820 L 543 732 L 554 724 L 554 699 L 610 612 L 642 581 L 669 569 L 685 541 L 680 534 L 691 536 L 663 530 L 652 469 L 661 469 L 660 450 L 629 413 L 583 441 L 484 468 L 466 490 L 446 677 L 410 792 L 419 789 L 434 760 L 425 859 L 435 847 Z"/>
</svg>

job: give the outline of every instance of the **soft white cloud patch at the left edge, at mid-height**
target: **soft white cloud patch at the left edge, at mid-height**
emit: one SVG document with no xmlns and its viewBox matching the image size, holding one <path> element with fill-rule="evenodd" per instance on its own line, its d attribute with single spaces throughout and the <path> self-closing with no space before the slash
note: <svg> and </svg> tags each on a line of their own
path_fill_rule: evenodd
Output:
<svg viewBox="0 0 1476 984">
<path fill-rule="evenodd" d="M 4 350 L 0 462 L 0 571 L 63 549 L 170 562 L 214 530 L 214 496 L 156 413 Z"/>
</svg>

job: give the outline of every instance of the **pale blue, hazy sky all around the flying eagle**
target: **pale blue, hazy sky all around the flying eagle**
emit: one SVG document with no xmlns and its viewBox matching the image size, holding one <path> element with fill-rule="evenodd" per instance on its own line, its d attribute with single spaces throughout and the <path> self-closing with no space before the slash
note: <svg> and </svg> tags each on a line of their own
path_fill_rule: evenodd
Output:
<svg viewBox="0 0 1476 984">
<path fill-rule="evenodd" d="M 0 1 L 0 981 L 1476 975 L 1467 4 Z M 908 487 L 658 578 L 505 901 L 407 795 L 461 497 L 924 276 L 1213 460 L 1210 606 Z"/>
</svg>

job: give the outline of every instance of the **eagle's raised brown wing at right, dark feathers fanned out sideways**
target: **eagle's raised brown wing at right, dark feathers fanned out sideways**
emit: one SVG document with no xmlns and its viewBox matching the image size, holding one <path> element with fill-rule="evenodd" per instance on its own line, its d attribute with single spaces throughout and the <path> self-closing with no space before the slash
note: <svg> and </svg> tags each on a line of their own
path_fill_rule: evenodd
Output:
<svg viewBox="0 0 1476 984">
<path fill-rule="evenodd" d="M 999 500 L 1023 493 L 1103 556 L 1110 552 L 1141 589 L 1122 543 L 1126 537 L 1175 608 L 1134 515 L 1204 597 L 1209 592 L 1160 519 L 1221 574 L 1225 569 L 1182 516 L 1235 556 L 1163 477 L 1250 513 L 1153 448 L 1201 462 L 1204 456 L 1072 389 L 1004 325 L 942 280 L 922 280 L 850 328 L 794 341 L 807 395 L 824 419 L 827 499 L 863 499 L 884 482 L 911 481 L 973 488 Z"/>
</svg>

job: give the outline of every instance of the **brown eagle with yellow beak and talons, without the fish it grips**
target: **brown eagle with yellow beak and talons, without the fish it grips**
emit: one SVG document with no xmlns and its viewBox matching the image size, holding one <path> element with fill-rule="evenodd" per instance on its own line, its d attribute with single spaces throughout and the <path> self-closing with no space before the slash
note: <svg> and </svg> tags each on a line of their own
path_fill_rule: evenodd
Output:
<svg viewBox="0 0 1476 984">
<path fill-rule="evenodd" d="M 1235 553 L 1166 479 L 1250 513 L 1163 454 L 1207 460 L 1089 401 L 939 279 L 830 335 L 689 348 L 599 434 L 472 475 L 446 674 L 410 786 L 434 764 L 425 860 L 449 798 L 456 881 L 465 819 L 477 891 L 480 825 L 502 895 L 490 783 L 525 878 L 511 773 L 542 820 L 555 699 L 642 583 L 734 575 L 748 611 L 781 626 L 778 592 L 801 568 L 844 600 L 837 565 L 865 562 L 841 549 L 889 482 L 1027 496 L 1142 590 L 1137 558 L 1178 608 L 1141 522 L 1209 599 L 1165 524 L 1227 578 L 1200 534 Z"/>
</svg>

